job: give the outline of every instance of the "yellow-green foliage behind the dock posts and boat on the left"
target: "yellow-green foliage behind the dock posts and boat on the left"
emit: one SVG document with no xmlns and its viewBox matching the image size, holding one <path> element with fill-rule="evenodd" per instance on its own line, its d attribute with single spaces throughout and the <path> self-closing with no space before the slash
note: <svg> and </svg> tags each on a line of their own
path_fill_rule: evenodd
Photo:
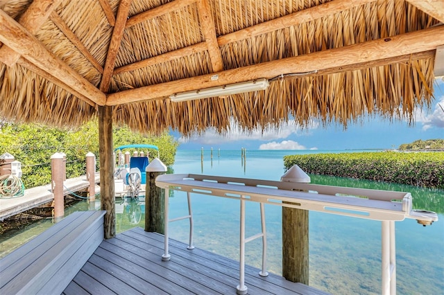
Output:
<svg viewBox="0 0 444 295">
<path fill-rule="evenodd" d="M 114 147 L 133 143 L 157 145 L 160 160 L 167 166 L 173 165 L 178 142 L 167 132 L 161 136 L 151 136 L 131 132 L 128 127 L 116 127 L 113 133 Z M 100 160 L 98 123 L 92 120 L 76 130 L 6 123 L 0 125 L 0 154 L 4 152 L 9 152 L 22 162 L 25 188 L 51 182 L 50 157 L 56 152 L 67 155 L 67 178 L 78 177 L 85 174 L 87 152 L 94 153 Z M 150 153 L 150 159 L 153 157 L 157 157 L 157 151 Z M 99 169 L 99 163 L 96 167 Z"/>
</svg>

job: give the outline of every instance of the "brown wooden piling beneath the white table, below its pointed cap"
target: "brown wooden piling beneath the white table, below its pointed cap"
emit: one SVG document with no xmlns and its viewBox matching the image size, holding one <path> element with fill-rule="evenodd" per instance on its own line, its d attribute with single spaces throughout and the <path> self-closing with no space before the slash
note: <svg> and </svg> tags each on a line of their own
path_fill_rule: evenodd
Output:
<svg viewBox="0 0 444 295">
<path fill-rule="evenodd" d="M 308 211 L 282 207 L 282 276 L 309 285 Z"/>
</svg>

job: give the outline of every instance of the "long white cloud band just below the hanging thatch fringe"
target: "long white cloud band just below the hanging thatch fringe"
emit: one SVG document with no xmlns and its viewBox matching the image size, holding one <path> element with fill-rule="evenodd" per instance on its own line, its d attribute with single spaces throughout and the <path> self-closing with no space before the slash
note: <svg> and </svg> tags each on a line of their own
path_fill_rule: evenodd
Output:
<svg viewBox="0 0 444 295">
<path fill-rule="evenodd" d="M 271 141 L 280 138 L 287 138 L 291 134 L 305 134 L 309 133 L 309 130 L 318 128 L 319 123 L 311 123 L 306 129 L 300 128 L 294 121 L 290 121 L 288 124 L 282 123 L 281 127 L 276 129 L 266 129 L 264 132 L 260 129 L 255 129 L 252 132 L 242 132 L 239 126 L 231 121 L 230 131 L 226 134 L 218 134 L 215 129 L 207 129 L 200 136 L 191 136 L 191 138 L 179 138 L 180 143 L 188 141 L 199 142 L 202 144 L 216 145 L 220 143 L 227 143 L 230 141 Z"/>
</svg>

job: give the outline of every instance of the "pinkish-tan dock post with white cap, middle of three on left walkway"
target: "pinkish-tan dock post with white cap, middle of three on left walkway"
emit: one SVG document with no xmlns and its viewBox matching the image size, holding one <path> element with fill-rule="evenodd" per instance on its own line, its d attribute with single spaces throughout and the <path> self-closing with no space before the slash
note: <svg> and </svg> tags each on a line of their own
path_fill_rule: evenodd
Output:
<svg viewBox="0 0 444 295">
<path fill-rule="evenodd" d="M 65 197 L 63 193 L 63 172 L 66 170 L 66 162 L 63 155 L 56 152 L 51 156 L 51 189 L 54 195 L 54 222 L 59 222 L 65 215 Z"/>
</svg>

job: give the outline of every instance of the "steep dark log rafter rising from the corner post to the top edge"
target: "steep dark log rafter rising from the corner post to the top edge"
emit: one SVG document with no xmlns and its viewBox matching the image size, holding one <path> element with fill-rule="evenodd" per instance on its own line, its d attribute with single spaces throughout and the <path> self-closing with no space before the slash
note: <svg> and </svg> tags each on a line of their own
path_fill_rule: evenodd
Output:
<svg viewBox="0 0 444 295">
<path fill-rule="evenodd" d="M 110 89 L 112 71 L 114 70 L 117 53 L 119 53 L 120 42 L 123 37 L 123 30 L 125 29 L 126 19 L 128 18 L 128 11 L 130 10 L 132 1 L 133 0 L 122 0 L 119 4 L 116 24 L 114 30 L 112 30 L 110 47 L 108 48 L 108 55 L 106 56 L 105 67 L 100 82 L 100 90 L 105 93 Z"/>
</svg>

